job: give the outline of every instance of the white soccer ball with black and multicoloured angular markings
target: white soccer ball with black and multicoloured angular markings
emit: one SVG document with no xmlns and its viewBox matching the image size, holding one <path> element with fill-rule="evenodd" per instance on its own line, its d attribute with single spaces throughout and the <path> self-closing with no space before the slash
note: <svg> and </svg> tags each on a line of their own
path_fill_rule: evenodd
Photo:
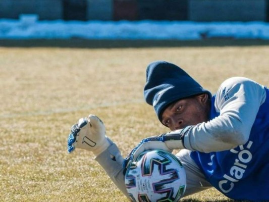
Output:
<svg viewBox="0 0 269 202">
<path fill-rule="evenodd" d="M 125 186 L 134 202 L 177 202 L 186 189 L 186 173 L 173 154 L 149 150 L 130 164 Z"/>
</svg>

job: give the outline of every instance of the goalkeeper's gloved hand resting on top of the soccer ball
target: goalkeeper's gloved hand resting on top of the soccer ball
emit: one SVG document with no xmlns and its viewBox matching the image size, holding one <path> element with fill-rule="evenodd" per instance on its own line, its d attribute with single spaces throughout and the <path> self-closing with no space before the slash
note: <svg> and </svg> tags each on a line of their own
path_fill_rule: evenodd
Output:
<svg viewBox="0 0 269 202">
<path fill-rule="evenodd" d="M 173 149 L 183 149 L 184 147 L 184 134 L 187 133 L 193 126 L 188 126 L 184 129 L 175 130 L 169 133 L 164 133 L 158 136 L 152 136 L 143 139 L 131 153 L 125 158 L 124 173 L 126 169 L 135 161 L 138 156 L 146 150 L 162 149 L 172 152 Z"/>
</svg>

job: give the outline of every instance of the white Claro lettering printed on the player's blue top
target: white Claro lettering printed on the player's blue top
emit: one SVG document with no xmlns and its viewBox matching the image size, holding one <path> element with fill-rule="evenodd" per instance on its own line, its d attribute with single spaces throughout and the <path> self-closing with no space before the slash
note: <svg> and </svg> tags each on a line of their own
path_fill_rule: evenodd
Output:
<svg viewBox="0 0 269 202">
<path fill-rule="evenodd" d="M 243 177 L 245 170 L 247 169 L 247 163 L 249 163 L 252 160 L 252 154 L 248 149 L 250 149 L 252 145 L 252 141 L 249 141 L 246 145 L 246 148 L 244 148 L 243 145 L 239 146 L 239 151 L 235 149 L 231 149 L 230 151 L 234 154 L 238 154 L 238 158 L 235 159 L 235 163 L 230 169 L 230 175 L 224 175 L 224 180 L 221 180 L 219 182 L 219 187 L 224 193 L 230 192 L 236 182 L 239 182 L 239 180 Z"/>
</svg>

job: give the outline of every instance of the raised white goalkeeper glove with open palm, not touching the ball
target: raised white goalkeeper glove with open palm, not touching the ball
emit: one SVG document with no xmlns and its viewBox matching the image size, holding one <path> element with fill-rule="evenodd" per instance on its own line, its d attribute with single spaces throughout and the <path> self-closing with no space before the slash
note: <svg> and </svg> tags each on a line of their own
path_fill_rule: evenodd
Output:
<svg viewBox="0 0 269 202">
<path fill-rule="evenodd" d="M 67 141 L 68 153 L 72 153 L 76 148 L 92 151 L 98 156 L 102 151 L 110 146 L 110 141 L 105 136 L 103 122 L 95 115 L 81 118 L 77 124 L 71 127 Z"/>
</svg>

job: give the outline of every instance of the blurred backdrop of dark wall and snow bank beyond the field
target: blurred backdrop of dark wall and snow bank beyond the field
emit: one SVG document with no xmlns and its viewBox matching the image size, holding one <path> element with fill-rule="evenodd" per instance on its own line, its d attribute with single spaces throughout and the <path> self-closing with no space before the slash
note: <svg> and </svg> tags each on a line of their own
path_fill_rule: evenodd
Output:
<svg viewBox="0 0 269 202">
<path fill-rule="evenodd" d="M 269 0 L 0 1 L 0 40 L 268 40 L 268 21 Z"/>
</svg>

